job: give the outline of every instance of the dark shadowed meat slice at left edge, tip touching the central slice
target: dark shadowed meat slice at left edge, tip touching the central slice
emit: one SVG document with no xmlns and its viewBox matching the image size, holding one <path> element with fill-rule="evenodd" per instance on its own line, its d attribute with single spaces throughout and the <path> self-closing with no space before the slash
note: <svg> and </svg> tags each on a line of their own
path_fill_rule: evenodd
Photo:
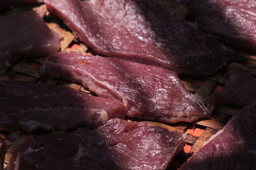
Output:
<svg viewBox="0 0 256 170">
<path fill-rule="evenodd" d="M 106 124 L 124 118 L 120 101 L 68 87 L 0 81 L 0 130 L 29 133 Z"/>
</svg>

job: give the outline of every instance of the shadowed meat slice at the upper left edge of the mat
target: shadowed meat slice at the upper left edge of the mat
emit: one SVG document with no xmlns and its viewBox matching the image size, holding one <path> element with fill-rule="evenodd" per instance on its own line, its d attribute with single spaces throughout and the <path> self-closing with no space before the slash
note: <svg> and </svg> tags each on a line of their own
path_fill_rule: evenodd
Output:
<svg viewBox="0 0 256 170">
<path fill-rule="evenodd" d="M 60 48 L 60 35 L 35 12 L 0 16 L 0 69 L 22 57 L 45 57 Z"/>
</svg>

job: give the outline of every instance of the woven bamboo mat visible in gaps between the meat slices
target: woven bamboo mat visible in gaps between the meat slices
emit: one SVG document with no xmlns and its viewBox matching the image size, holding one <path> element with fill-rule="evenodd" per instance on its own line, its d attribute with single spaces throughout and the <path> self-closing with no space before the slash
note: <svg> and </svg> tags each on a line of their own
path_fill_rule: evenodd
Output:
<svg viewBox="0 0 256 170">
<path fill-rule="evenodd" d="M 152 0 L 153 1 L 153 0 Z M 173 3 L 172 1 L 162 0 L 157 1 L 157 3 L 166 7 L 166 10 L 175 9 L 174 11 L 170 11 L 177 18 L 184 19 L 186 16 L 186 7 L 179 4 Z M 19 6 L 13 8 L 12 10 L 5 11 L 3 14 L 11 14 L 11 13 L 19 13 L 24 10 L 35 10 L 37 13 L 44 17 L 45 20 L 51 18 L 51 22 L 47 22 L 47 25 L 50 29 L 63 34 L 63 38 L 61 38 L 61 51 L 70 52 L 70 51 L 80 51 L 84 53 L 93 53 L 88 49 L 86 45 L 78 41 L 74 38 L 72 32 L 68 31 L 67 27 L 61 23 L 58 18 L 55 18 L 49 14 L 44 4 L 40 4 L 40 6 L 35 5 L 31 7 L 27 6 Z M 46 16 L 46 17 L 45 17 Z M 242 67 L 246 69 L 248 73 L 256 76 L 256 55 L 252 53 L 246 52 L 237 52 L 237 60 L 230 62 L 223 69 L 218 71 L 218 73 L 212 76 L 205 77 L 193 77 L 193 76 L 184 76 L 181 75 L 180 79 L 188 89 L 193 94 L 196 94 L 200 97 L 207 97 L 215 92 L 221 92 L 225 83 L 227 81 L 227 70 L 228 67 Z M 36 83 L 48 83 L 48 84 L 56 84 L 56 85 L 64 85 L 70 87 L 72 89 L 81 90 L 90 94 L 88 89 L 84 89 L 79 84 L 70 83 L 68 81 L 63 80 L 42 80 L 37 71 L 42 67 L 44 63 L 44 58 L 40 59 L 23 59 L 17 64 L 9 67 L 8 69 L 4 69 L 0 71 L 0 81 L 1 80 L 10 80 L 10 81 L 31 81 Z M 219 106 L 213 113 L 212 118 L 207 120 L 199 120 L 194 123 L 180 122 L 177 124 L 166 124 L 170 129 L 177 129 L 177 131 L 187 132 L 188 135 L 186 137 L 186 144 L 175 159 L 170 165 L 169 169 L 177 169 L 180 164 L 185 162 L 191 155 L 196 152 L 212 135 L 216 134 L 228 121 L 228 119 L 236 113 L 240 108 L 232 107 L 232 106 Z M 137 120 L 138 121 L 138 120 Z M 165 125 L 165 126 L 166 126 Z M 60 131 L 56 131 L 53 133 L 58 133 Z M 61 131 L 62 132 L 62 131 Z M 10 157 L 12 156 L 12 152 L 17 147 L 19 143 L 21 143 L 28 134 L 24 132 L 20 133 L 6 133 L 0 132 L 0 136 L 2 136 L 6 145 L 8 146 L 8 152 L 6 153 L 6 158 L 4 160 L 4 168 L 8 164 Z"/>
</svg>

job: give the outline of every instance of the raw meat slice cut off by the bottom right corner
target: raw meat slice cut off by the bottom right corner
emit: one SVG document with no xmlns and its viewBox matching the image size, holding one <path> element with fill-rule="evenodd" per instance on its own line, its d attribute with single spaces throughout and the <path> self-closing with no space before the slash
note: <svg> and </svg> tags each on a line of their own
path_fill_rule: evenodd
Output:
<svg viewBox="0 0 256 170">
<path fill-rule="evenodd" d="M 256 169 L 255 122 L 256 104 L 251 104 L 234 115 L 180 170 Z"/>
</svg>

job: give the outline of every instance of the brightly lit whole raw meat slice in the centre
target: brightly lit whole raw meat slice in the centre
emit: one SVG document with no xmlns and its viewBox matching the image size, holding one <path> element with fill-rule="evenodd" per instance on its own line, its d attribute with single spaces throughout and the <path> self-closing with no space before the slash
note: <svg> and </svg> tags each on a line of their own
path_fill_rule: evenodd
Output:
<svg viewBox="0 0 256 170">
<path fill-rule="evenodd" d="M 129 117 L 175 123 L 210 116 L 177 74 L 162 67 L 81 52 L 55 52 L 45 60 L 40 76 L 81 83 L 100 97 L 118 99 Z"/>
</svg>

